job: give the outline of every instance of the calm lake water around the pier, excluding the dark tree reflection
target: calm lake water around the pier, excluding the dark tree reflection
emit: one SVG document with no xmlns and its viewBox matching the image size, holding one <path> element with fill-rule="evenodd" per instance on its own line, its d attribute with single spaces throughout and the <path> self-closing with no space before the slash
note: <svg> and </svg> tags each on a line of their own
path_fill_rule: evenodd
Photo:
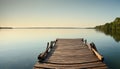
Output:
<svg viewBox="0 0 120 69">
<path fill-rule="evenodd" d="M 120 69 L 120 42 L 94 29 L 2 29 L 0 69 L 32 69 L 47 42 L 56 38 L 84 38 L 94 42 L 108 67 Z"/>
</svg>

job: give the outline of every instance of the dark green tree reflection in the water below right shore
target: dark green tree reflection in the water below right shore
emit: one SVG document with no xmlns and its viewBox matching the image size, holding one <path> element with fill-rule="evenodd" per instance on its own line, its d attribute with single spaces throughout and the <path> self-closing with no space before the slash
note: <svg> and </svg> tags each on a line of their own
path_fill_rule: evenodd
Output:
<svg viewBox="0 0 120 69">
<path fill-rule="evenodd" d="M 120 30 L 98 30 L 96 31 L 103 32 L 105 35 L 110 35 L 114 38 L 116 42 L 120 41 Z"/>
</svg>

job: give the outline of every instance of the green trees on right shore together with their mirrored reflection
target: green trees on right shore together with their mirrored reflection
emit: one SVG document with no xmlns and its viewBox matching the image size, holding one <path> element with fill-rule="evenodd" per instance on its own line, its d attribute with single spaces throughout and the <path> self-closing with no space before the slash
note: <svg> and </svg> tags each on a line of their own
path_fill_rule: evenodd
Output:
<svg viewBox="0 0 120 69">
<path fill-rule="evenodd" d="M 106 35 L 111 35 L 117 42 L 120 41 L 120 17 L 111 23 L 96 26 L 95 29 L 104 32 Z"/>
</svg>

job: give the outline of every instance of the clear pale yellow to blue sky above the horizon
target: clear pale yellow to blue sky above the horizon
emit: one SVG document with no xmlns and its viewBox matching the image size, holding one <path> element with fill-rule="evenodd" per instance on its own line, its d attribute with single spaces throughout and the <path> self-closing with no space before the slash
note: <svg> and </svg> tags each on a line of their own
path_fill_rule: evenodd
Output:
<svg viewBox="0 0 120 69">
<path fill-rule="evenodd" d="M 0 0 L 0 26 L 94 27 L 120 17 L 120 0 Z"/>
</svg>

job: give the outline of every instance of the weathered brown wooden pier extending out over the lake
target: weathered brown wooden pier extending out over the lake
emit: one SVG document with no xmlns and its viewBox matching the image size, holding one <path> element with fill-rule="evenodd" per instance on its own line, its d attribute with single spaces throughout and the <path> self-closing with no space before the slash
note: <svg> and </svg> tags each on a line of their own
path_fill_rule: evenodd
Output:
<svg viewBox="0 0 120 69">
<path fill-rule="evenodd" d="M 47 44 L 33 69 L 108 69 L 94 43 L 84 39 L 57 39 Z"/>
</svg>

